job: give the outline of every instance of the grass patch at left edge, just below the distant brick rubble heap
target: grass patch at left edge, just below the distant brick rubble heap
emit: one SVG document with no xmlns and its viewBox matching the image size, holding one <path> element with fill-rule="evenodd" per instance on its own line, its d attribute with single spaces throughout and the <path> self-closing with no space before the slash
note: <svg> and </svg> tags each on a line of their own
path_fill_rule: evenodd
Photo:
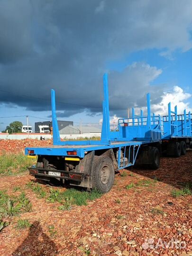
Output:
<svg viewBox="0 0 192 256">
<path fill-rule="evenodd" d="M 20 174 L 27 170 L 27 167 L 34 164 L 34 159 L 27 158 L 27 155 L 3 153 L 0 155 L 0 174 Z"/>
</svg>

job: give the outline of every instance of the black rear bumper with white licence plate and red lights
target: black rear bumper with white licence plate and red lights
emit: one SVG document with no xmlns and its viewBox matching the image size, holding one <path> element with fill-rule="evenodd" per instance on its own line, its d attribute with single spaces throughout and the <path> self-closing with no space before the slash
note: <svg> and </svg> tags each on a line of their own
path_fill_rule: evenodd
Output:
<svg viewBox="0 0 192 256">
<path fill-rule="evenodd" d="M 29 167 L 29 174 L 32 176 L 35 176 L 38 179 L 42 180 L 50 180 L 50 178 L 59 178 L 64 180 L 72 180 L 72 181 L 78 181 L 83 182 L 85 177 L 88 175 L 86 173 L 77 173 L 77 172 L 69 172 L 69 171 L 63 171 L 63 170 L 49 170 L 49 169 L 42 169 L 42 168 L 34 168 Z M 49 175 L 49 172 L 57 172 L 61 175 Z"/>
</svg>

